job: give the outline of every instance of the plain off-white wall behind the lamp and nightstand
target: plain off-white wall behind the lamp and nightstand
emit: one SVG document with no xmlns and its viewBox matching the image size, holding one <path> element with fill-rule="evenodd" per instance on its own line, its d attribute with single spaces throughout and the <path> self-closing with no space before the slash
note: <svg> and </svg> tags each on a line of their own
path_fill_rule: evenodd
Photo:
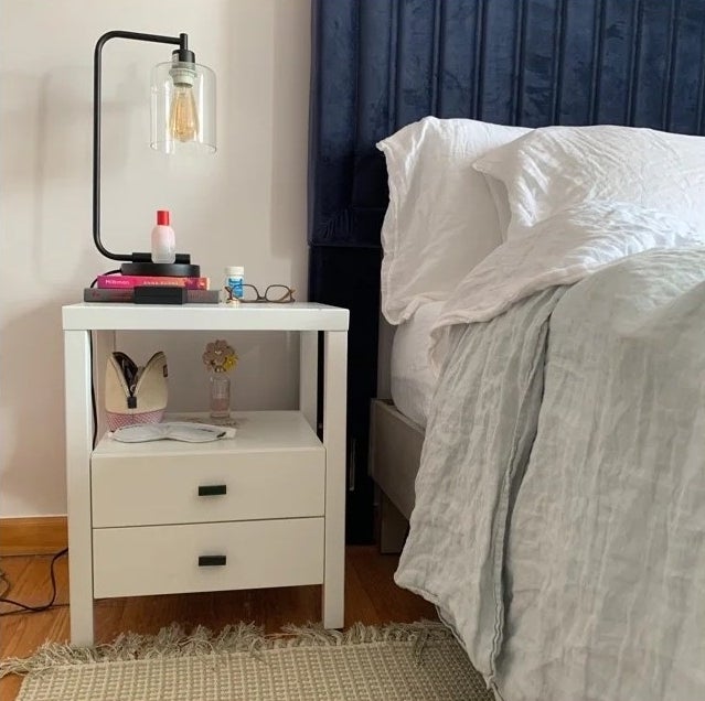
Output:
<svg viewBox="0 0 705 701">
<path fill-rule="evenodd" d="M 149 250 L 169 208 L 178 250 L 213 283 L 247 281 L 306 296 L 310 0 L 8 0 L 0 14 L 0 517 L 64 514 L 61 306 L 111 261 L 92 241 L 93 50 L 108 30 L 189 33 L 217 76 L 214 157 L 149 148 L 149 72 L 171 47 L 104 50 L 103 241 Z M 170 408 L 205 409 L 211 335 L 120 335 L 143 362 L 164 349 Z M 296 338 L 231 336 L 241 355 L 234 408 L 290 408 Z"/>
</svg>

